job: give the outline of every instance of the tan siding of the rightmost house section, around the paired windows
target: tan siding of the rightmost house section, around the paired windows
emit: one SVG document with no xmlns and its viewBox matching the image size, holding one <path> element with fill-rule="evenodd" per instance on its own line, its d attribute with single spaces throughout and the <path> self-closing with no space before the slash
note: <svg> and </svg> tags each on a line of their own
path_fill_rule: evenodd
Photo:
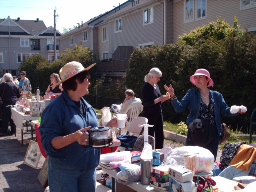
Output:
<svg viewBox="0 0 256 192">
<path fill-rule="evenodd" d="M 234 16 L 242 28 L 256 27 L 256 8 L 240 10 L 240 0 L 207 0 L 206 18 L 196 20 L 196 0 L 194 0 L 194 20 L 184 23 L 184 0 L 174 1 L 174 42 L 178 36 L 190 32 L 190 30 L 216 21 L 217 17 L 226 20 L 231 26 L 234 23 Z"/>
</svg>

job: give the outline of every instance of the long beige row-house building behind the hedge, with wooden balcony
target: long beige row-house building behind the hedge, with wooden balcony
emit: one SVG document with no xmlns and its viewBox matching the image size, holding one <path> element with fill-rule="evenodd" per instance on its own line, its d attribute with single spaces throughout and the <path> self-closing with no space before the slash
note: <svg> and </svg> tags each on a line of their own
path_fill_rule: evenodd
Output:
<svg viewBox="0 0 256 192">
<path fill-rule="evenodd" d="M 58 40 L 61 51 L 82 40 L 96 55 L 98 75 L 123 76 L 136 48 L 175 43 L 217 17 L 233 25 L 234 16 L 256 32 L 255 0 L 128 0 Z"/>
</svg>

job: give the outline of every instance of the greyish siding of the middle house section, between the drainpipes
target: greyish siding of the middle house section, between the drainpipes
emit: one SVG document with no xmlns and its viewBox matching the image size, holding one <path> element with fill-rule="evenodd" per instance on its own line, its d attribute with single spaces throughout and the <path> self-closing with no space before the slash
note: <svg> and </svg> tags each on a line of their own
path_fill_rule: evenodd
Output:
<svg viewBox="0 0 256 192">
<path fill-rule="evenodd" d="M 143 10 L 153 7 L 154 22 L 143 25 Z M 132 11 L 130 14 L 116 17 L 109 22 L 109 52 L 114 53 L 118 46 L 133 46 L 135 50 L 139 44 L 154 42 L 154 44 L 163 44 L 163 12 L 162 4 L 157 3 L 154 6 L 144 6 L 139 11 Z M 122 32 L 115 33 L 114 22 L 122 18 Z"/>
</svg>

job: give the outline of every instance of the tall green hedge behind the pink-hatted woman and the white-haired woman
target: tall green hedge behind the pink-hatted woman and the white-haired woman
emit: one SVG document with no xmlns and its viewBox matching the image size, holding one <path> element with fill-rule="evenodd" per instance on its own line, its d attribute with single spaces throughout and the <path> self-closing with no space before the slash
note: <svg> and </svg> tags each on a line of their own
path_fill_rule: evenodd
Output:
<svg viewBox="0 0 256 192">
<path fill-rule="evenodd" d="M 223 116 L 222 121 L 230 124 L 230 129 L 238 125 L 246 130 L 256 107 L 256 35 L 239 28 L 236 18 L 234 26 L 218 18 L 180 36 L 176 44 L 135 50 L 129 60 L 126 85 L 141 97 L 146 71 L 158 67 L 162 71 L 160 92 L 165 94 L 164 84 L 172 84 L 178 100 L 182 100 L 194 88 L 190 76 L 198 68 L 205 68 L 214 81 L 214 87 L 209 89 L 220 92 L 228 106 L 244 105 L 248 110 L 235 117 Z M 162 104 L 162 112 L 164 120 L 173 123 L 189 114 L 189 110 L 176 113 L 170 101 Z"/>
</svg>

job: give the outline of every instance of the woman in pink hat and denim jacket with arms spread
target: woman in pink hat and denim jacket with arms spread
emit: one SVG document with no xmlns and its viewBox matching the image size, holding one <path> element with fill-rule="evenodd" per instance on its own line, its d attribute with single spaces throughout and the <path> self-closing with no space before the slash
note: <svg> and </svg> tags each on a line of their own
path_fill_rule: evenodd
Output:
<svg viewBox="0 0 256 192">
<path fill-rule="evenodd" d="M 178 101 L 174 94 L 174 88 L 172 85 L 169 87 L 164 85 L 164 88 L 168 91 L 172 100 L 172 107 L 176 112 L 184 112 L 189 109 L 190 114 L 187 117 L 186 124 L 189 125 L 196 118 L 209 119 L 210 132 L 212 139 L 209 139 L 204 148 L 210 150 L 216 160 L 219 138 L 222 133 L 220 113 L 224 116 L 236 116 L 238 113 L 245 113 L 241 110 L 238 113 L 230 113 L 230 107 L 224 101 L 222 94 L 216 91 L 211 91 L 208 87 L 213 86 L 214 83 L 210 78 L 210 73 L 205 69 L 196 70 L 195 74 L 190 76 L 192 84 L 196 85 L 196 88 L 188 90 L 188 93 L 183 97 L 181 101 Z M 216 102 L 217 100 L 217 102 Z M 188 127 L 186 146 L 195 146 L 190 137 L 190 128 Z M 203 138 L 202 138 L 203 139 Z"/>
</svg>

